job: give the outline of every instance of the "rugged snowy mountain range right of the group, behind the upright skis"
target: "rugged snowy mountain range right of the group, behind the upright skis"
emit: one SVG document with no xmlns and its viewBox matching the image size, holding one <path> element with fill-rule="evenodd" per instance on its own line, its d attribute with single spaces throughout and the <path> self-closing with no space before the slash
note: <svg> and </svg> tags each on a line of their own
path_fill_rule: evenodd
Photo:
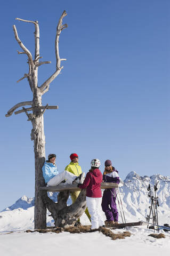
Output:
<svg viewBox="0 0 170 256">
<path fill-rule="evenodd" d="M 144 220 L 149 214 L 150 197 L 147 188 L 150 184 L 152 194 L 155 194 L 153 187 L 156 182 L 158 183 L 158 217 L 161 222 L 170 222 L 170 177 L 160 174 L 141 177 L 135 172 L 130 172 L 119 188 L 127 219 Z"/>
</svg>

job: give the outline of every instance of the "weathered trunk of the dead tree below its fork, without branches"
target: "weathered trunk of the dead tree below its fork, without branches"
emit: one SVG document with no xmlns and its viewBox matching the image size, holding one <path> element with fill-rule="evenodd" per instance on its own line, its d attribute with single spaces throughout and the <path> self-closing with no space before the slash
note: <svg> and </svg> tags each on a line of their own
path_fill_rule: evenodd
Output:
<svg viewBox="0 0 170 256">
<path fill-rule="evenodd" d="M 37 76 L 37 72 L 35 76 Z M 33 115 L 35 115 L 35 118 L 31 120 L 33 125 L 33 129 L 31 131 L 31 140 L 34 140 L 35 154 L 34 225 L 35 228 L 46 228 L 46 206 L 42 200 L 43 193 L 41 190 L 39 190 L 39 187 L 45 185 L 42 173 L 42 167 L 45 162 L 44 116 L 41 115 L 42 111 L 38 108 L 40 106 L 42 106 L 42 97 L 39 97 L 39 91 L 35 90 L 33 99 Z"/>
</svg>

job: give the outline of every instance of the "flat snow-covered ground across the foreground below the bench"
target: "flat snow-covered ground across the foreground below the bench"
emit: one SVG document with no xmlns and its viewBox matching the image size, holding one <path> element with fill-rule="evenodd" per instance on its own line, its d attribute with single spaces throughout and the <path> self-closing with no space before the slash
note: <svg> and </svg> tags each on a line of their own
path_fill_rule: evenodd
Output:
<svg viewBox="0 0 170 256">
<path fill-rule="evenodd" d="M 169 255 L 170 235 L 156 239 L 149 237 L 150 230 L 129 228 L 133 235 L 125 239 L 111 240 L 99 231 L 85 234 L 0 233 L 1 255 Z"/>
</svg>

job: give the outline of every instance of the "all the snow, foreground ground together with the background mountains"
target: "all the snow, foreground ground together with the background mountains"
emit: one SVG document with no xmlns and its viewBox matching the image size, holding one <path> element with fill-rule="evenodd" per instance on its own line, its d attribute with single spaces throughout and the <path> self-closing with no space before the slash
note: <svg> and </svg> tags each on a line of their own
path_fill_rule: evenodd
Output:
<svg viewBox="0 0 170 256">
<path fill-rule="evenodd" d="M 150 199 L 147 187 L 158 183 L 159 224 L 170 223 L 170 178 L 162 175 L 140 177 L 135 172 L 127 175 L 120 185 L 120 196 L 127 222 L 145 220 L 149 213 Z M 50 194 L 56 200 L 56 195 Z M 70 199 L 69 199 L 70 200 Z M 120 200 L 120 198 L 119 198 Z M 70 201 L 69 201 L 70 203 Z M 118 210 L 122 208 L 118 207 Z M 53 219 L 47 213 L 47 226 L 53 226 Z M 0 251 L 1 255 L 169 255 L 170 232 L 159 231 L 165 238 L 156 239 L 148 236 L 153 230 L 147 226 L 128 227 L 132 234 L 125 239 L 111 240 L 99 231 L 94 233 L 70 234 L 68 232 L 55 233 L 26 233 L 27 229 L 34 229 L 34 198 L 21 197 L 15 204 L 0 213 Z M 103 214 L 104 217 L 104 214 Z M 89 225 L 85 214 L 80 218 L 82 225 Z M 122 222 L 120 214 L 119 221 Z M 124 229 L 113 230 L 114 233 Z"/>
</svg>

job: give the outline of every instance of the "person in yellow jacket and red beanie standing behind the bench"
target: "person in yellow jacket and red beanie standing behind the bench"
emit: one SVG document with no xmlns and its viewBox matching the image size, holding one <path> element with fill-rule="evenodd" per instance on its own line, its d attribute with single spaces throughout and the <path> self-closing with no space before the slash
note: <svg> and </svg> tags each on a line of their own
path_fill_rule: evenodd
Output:
<svg viewBox="0 0 170 256">
<path fill-rule="evenodd" d="M 71 172 L 72 174 L 79 176 L 82 173 L 82 168 L 78 163 L 78 155 L 76 153 L 72 153 L 70 155 L 70 159 L 71 159 L 71 162 L 66 166 L 65 171 Z M 74 191 L 74 192 L 71 192 L 70 194 L 71 194 L 72 203 L 74 204 L 77 197 L 80 194 L 80 191 Z M 91 221 L 91 217 L 87 208 L 85 210 L 85 213 L 88 219 Z M 75 226 L 79 226 L 79 225 L 80 225 L 80 220 L 78 219 L 75 223 Z"/>
</svg>

